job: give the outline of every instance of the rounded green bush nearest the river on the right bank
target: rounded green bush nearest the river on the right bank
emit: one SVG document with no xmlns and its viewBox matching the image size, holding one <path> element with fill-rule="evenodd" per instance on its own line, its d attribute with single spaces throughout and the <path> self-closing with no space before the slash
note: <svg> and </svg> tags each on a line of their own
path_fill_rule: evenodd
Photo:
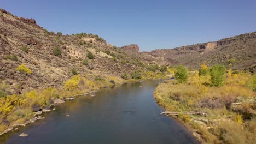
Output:
<svg viewBox="0 0 256 144">
<path fill-rule="evenodd" d="M 183 66 L 179 65 L 175 72 L 175 79 L 179 83 L 186 83 L 188 81 L 188 70 Z"/>
</svg>

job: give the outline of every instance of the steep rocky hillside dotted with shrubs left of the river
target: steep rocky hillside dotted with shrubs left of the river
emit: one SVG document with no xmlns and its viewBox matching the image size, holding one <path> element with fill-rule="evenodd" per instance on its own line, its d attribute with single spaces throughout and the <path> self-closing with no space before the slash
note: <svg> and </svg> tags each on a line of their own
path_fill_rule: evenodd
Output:
<svg viewBox="0 0 256 144">
<path fill-rule="evenodd" d="M 17 17 L 3 9 L 0 60 L 0 79 L 11 89 L 7 94 L 59 87 L 75 73 L 89 79 L 97 75 L 120 77 L 124 71 L 141 69 L 142 63 L 98 35 L 55 34 L 38 26 L 36 20 Z"/>
</svg>

